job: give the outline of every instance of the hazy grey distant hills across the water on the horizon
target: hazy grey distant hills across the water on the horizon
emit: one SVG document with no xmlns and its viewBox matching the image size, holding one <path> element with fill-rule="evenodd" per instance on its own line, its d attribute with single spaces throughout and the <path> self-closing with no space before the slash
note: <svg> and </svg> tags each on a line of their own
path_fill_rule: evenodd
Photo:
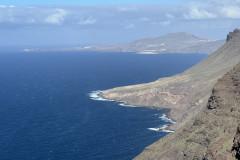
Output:
<svg viewBox="0 0 240 160">
<path fill-rule="evenodd" d="M 108 52 L 136 52 L 140 54 L 159 53 L 212 53 L 225 43 L 189 33 L 170 33 L 157 38 L 141 39 L 128 44 L 93 46 L 91 50 Z"/>
</svg>

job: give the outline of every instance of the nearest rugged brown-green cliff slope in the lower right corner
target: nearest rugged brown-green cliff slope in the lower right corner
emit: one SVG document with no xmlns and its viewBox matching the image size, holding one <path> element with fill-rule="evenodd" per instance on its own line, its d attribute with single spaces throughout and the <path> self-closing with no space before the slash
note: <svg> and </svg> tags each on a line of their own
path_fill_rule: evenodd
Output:
<svg viewBox="0 0 240 160">
<path fill-rule="evenodd" d="M 240 64 L 221 78 L 205 108 L 136 159 L 240 159 Z"/>
</svg>

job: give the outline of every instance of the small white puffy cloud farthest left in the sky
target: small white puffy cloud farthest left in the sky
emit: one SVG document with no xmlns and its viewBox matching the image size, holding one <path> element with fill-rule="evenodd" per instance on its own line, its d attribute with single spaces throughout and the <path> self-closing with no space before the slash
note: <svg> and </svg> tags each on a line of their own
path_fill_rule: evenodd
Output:
<svg viewBox="0 0 240 160">
<path fill-rule="evenodd" d="M 50 23 L 50 24 L 61 24 L 66 15 L 67 15 L 67 11 L 64 9 L 55 9 L 56 13 L 49 15 L 46 19 L 45 22 L 46 23 Z"/>
</svg>

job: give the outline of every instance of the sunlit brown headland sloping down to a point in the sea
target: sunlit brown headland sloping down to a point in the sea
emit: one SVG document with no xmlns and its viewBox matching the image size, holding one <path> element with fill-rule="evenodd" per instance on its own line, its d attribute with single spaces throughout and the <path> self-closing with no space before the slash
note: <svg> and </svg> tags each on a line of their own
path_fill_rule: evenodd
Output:
<svg viewBox="0 0 240 160">
<path fill-rule="evenodd" d="M 206 107 L 218 79 L 240 61 L 239 30 L 230 33 L 227 39 L 220 49 L 181 74 L 151 83 L 106 90 L 101 96 L 135 106 L 171 109 L 168 117 L 176 123 L 170 129 L 177 130 Z M 221 101 L 218 97 L 212 97 L 212 100 Z M 216 107 L 209 104 L 209 109 Z"/>
</svg>

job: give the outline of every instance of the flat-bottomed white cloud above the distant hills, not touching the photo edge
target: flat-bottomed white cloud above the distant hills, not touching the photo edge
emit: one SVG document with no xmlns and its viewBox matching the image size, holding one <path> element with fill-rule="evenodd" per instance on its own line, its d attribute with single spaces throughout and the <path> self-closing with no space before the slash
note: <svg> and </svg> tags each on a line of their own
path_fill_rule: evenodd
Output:
<svg viewBox="0 0 240 160">
<path fill-rule="evenodd" d="M 217 18 L 217 15 L 208 12 L 206 10 L 199 10 L 198 8 L 192 8 L 188 13 L 184 13 L 183 17 L 185 19 L 213 19 Z"/>
</svg>

